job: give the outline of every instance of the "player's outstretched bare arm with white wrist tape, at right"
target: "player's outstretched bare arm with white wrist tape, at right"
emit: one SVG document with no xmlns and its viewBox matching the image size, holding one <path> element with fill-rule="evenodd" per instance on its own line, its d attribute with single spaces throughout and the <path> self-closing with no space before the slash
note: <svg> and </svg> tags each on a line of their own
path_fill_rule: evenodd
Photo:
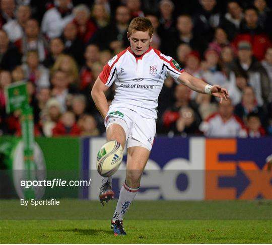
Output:
<svg viewBox="0 0 272 245">
<path fill-rule="evenodd" d="M 211 94 L 220 98 L 220 103 L 222 103 L 223 99 L 227 101 L 229 98 L 229 92 L 227 89 L 224 89 L 219 85 L 211 86 L 205 83 L 205 81 L 198 79 L 185 71 L 179 75 L 178 81 L 193 91 L 202 94 Z"/>
</svg>

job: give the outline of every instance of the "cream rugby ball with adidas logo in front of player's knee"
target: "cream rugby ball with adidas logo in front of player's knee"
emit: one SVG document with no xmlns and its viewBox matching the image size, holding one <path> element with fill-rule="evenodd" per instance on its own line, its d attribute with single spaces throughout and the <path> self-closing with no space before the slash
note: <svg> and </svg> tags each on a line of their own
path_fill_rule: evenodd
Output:
<svg viewBox="0 0 272 245">
<path fill-rule="evenodd" d="M 113 175 L 119 168 L 123 159 L 123 149 L 117 140 L 106 142 L 96 156 L 96 168 L 103 177 Z"/>
</svg>

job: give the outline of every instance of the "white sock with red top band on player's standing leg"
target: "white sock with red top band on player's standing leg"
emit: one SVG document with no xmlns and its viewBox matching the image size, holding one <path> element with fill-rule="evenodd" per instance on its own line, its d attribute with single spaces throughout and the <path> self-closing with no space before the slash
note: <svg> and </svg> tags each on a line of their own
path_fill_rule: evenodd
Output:
<svg viewBox="0 0 272 245">
<path fill-rule="evenodd" d="M 115 212 L 113 214 L 112 220 L 123 220 L 123 216 L 129 208 L 131 202 L 137 194 L 138 188 L 130 188 L 125 182 L 120 190 L 119 199 L 116 205 Z"/>
</svg>

